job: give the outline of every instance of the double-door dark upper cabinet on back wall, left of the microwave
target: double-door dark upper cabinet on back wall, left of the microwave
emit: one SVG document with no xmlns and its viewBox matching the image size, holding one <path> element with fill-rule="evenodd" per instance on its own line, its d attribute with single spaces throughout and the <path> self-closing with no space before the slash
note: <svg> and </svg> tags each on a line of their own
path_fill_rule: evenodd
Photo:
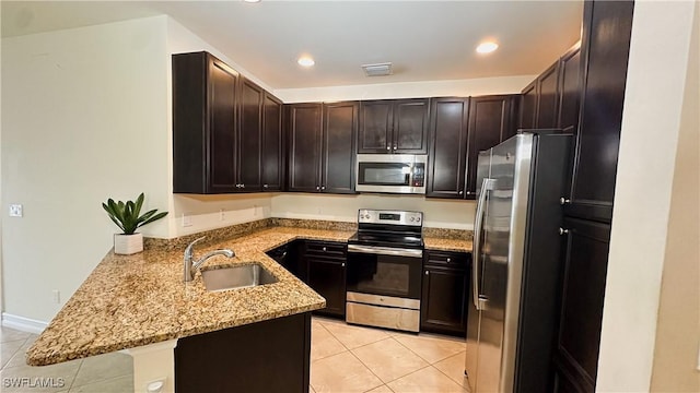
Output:
<svg viewBox="0 0 700 393">
<path fill-rule="evenodd" d="M 288 190 L 354 193 L 357 102 L 288 105 Z"/>
</svg>

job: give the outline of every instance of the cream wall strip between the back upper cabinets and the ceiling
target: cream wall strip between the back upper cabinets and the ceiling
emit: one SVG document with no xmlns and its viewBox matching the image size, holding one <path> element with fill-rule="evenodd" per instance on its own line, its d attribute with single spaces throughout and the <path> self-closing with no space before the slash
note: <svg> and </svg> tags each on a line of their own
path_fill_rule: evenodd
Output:
<svg viewBox="0 0 700 393">
<path fill-rule="evenodd" d="M 544 70 L 542 70 L 544 71 Z M 404 83 L 377 83 L 354 86 L 311 88 L 279 88 L 275 91 L 281 100 L 290 103 L 338 102 L 354 99 L 420 98 L 448 96 L 479 96 L 516 94 L 537 75 L 481 78 L 457 81 L 428 81 Z"/>
</svg>

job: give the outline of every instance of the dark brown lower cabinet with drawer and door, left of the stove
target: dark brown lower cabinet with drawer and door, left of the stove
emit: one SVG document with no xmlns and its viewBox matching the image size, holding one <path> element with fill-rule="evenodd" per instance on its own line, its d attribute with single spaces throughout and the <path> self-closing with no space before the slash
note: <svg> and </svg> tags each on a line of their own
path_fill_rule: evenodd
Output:
<svg viewBox="0 0 700 393">
<path fill-rule="evenodd" d="M 326 308 L 315 313 L 345 318 L 347 245 L 306 241 L 304 250 L 307 284 L 326 298 Z"/>
</svg>

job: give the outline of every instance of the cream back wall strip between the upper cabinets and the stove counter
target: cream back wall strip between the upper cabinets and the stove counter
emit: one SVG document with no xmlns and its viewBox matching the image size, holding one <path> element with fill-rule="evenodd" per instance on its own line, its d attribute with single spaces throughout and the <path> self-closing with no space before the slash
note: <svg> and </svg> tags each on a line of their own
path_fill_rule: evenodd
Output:
<svg viewBox="0 0 700 393">
<path fill-rule="evenodd" d="M 389 209 L 424 213 L 424 226 L 472 229 L 474 201 L 435 200 L 418 195 L 325 195 L 284 193 L 272 198 L 272 216 L 354 223 L 360 209 Z"/>
</svg>

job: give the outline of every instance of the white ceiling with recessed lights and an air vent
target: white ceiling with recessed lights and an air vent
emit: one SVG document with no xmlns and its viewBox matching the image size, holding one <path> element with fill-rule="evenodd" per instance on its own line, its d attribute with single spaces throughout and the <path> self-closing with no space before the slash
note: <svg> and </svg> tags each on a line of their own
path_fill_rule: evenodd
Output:
<svg viewBox="0 0 700 393">
<path fill-rule="evenodd" d="M 272 88 L 538 74 L 582 1 L 2 1 L 2 37 L 167 14 Z M 478 55 L 477 44 L 500 48 Z M 303 69 L 300 55 L 316 66 Z M 361 64 L 393 62 L 366 78 Z"/>
</svg>

